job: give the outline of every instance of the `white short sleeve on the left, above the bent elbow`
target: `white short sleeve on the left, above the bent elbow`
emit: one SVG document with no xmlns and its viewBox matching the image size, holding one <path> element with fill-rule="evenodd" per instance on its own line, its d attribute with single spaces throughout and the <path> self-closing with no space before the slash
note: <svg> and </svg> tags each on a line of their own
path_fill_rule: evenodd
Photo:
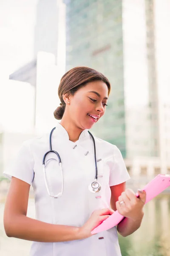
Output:
<svg viewBox="0 0 170 256">
<path fill-rule="evenodd" d="M 12 176 L 16 177 L 31 185 L 34 179 L 34 159 L 27 141 L 23 142 L 17 157 L 3 172 L 3 175 L 8 179 L 11 179 Z"/>
</svg>

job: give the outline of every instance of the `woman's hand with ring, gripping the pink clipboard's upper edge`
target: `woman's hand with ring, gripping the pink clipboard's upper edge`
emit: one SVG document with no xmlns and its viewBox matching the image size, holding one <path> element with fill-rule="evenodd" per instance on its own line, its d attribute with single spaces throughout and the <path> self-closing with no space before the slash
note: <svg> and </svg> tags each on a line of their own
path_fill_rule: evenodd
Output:
<svg viewBox="0 0 170 256">
<path fill-rule="evenodd" d="M 143 207 L 146 201 L 146 192 L 138 190 L 139 197 L 137 198 L 132 189 L 126 189 L 119 196 L 116 202 L 118 212 L 134 221 L 138 220 L 143 215 Z"/>
</svg>

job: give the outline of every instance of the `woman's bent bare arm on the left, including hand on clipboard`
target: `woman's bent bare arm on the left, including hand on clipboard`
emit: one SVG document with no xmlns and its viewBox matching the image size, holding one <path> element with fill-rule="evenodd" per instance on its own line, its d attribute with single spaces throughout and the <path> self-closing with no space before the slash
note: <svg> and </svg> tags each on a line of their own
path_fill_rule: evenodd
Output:
<svg viewBox="0 0 170 256">
<path fill-rule="evenodd" d="M 113 213 L 108 208 L 96 210 L 82 227 L 48 224 L 26 216 L 29 189 L 28 183 L 12 177 L 4 211 L 4 227 L 9 237 L 38 242 L 85 239 L 92 236 L 91 231 Z"/>
</svg>

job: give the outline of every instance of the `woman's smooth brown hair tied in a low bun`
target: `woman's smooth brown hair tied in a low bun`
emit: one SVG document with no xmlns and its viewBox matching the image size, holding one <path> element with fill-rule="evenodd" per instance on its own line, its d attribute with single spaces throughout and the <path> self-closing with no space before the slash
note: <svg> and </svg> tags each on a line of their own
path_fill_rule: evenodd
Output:
<svg viewBox="0 0 170 256">
<path fill-rule="evenodd" d="M 58 95 L 61 103 L 54 111 L 54 117 L 58 120 L 62 119 L 65 111 L 65 102 L 63 100 L 63 95 L 65 93 L 74 95 L 77 90 L 92 81 L 103 81 L 108 87 L 108 94 L 110 93 L 111 84 L 102 73 L 90 67 L 74 67 L 67 71 L 64 76 L 62 76 L 59 84 Z"/>
</svg>

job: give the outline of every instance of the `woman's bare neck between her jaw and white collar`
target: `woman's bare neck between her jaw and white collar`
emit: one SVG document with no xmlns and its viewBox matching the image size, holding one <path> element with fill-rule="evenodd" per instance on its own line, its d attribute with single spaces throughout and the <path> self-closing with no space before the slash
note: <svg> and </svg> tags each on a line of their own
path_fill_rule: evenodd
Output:
<svg viewBox="0 0 170 256">
<path fill-rule="evenodd" d="M 62 118 L 60 125 L 62 125 L 65 130 L 68 132 L 69 140 L 76 142 L 79 140 L 79 136 L 82 129 L 78 128 L 75 124 L 73 124 L 71 121 L 69 122 L 68 119 Z"/>
</svg>

